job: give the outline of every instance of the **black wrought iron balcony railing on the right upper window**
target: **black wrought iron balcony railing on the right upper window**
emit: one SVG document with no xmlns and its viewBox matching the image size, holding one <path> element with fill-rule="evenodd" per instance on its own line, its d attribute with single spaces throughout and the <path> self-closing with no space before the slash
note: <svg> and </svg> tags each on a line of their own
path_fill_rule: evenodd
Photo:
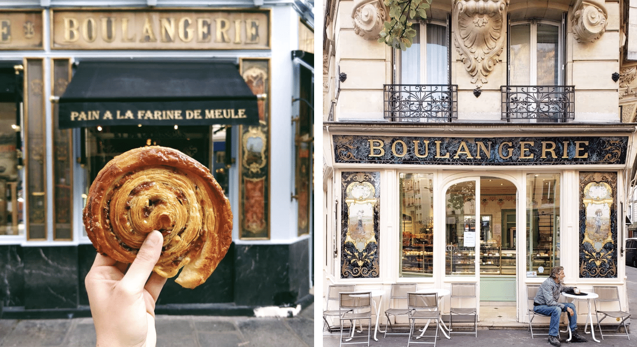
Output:
<svg viewBox="0 0 637 347">
<path fill-rule="evenodd" d="M 507 122 L 566 122 L 575 118 L 573 85 L 503 85 L 502 119 Z"/>
</svg>

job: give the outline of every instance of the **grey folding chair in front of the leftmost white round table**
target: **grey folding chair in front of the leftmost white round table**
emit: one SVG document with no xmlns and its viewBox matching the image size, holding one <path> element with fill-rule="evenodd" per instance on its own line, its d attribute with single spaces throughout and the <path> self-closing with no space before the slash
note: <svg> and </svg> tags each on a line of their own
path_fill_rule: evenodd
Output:
<svg viewBox="0 0 637 347">
<path fill-rule="evenodd" d="M 371 336 L 371 292 L 352 292 L 339 294 L 340 296 L 340 322 L 341 322 L 341 339 L 339 346 L 343 344 L 359 344 L 367 343 L 369 347 L 369 337 Z M 343 322 L 350 321 L 350 332 L 347 334 L 347 340 L 360 339 L 364 336 L 354 336 L 354 328 L 356 321 L 369 320 L 367 326 L 367 342 L 343 342 Z"/>
</svg>

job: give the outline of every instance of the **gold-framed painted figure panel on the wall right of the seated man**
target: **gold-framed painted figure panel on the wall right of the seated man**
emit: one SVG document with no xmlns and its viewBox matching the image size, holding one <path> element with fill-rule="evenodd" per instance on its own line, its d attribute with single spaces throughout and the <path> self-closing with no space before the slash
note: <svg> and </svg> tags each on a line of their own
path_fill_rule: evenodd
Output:
<svg viewBox="0 0 637 347">
<path fill-rule="evenodd" d="M 617 173 L 580 173 L 580 278 L 617 278 Z"/>
</svg>

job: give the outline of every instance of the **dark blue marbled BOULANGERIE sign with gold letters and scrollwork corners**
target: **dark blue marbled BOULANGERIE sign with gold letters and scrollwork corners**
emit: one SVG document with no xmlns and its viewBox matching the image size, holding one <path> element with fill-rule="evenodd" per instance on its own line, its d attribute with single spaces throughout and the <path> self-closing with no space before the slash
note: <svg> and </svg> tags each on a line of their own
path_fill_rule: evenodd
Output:
<svg viewBox="0 0 637 347">
<path fill-rule="evenodd" d="M 442 138 L 334 135 L 337 163 L 625 164 L 627 136 Z"/>
</svg>

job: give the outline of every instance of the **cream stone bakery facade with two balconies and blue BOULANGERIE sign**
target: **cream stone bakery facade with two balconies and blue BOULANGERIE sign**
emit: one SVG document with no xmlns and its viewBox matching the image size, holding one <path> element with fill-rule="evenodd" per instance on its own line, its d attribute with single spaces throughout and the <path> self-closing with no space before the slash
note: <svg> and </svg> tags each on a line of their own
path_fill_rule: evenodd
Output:
<svg viewBox="0 0 637 347">
<path fill-rule="evenodd" d="M 528 322 L 526 286 L 563 266 L 566 285 L 615 286 L 627 305 L 635 127 L 612 78 L 626 8 L 476 3 L 434 1 L 405 51 L 361 16 L 382 18 L 382 4 L 327 3 L 324 296 L 331 284 L 384 290 L 382 312 L 392 283 L 469 282 L 478 319 L 513 306 L 503 319 Z M 594 35 L 574 16 L 590 10 L 605 19 Z"/>
</svg>

